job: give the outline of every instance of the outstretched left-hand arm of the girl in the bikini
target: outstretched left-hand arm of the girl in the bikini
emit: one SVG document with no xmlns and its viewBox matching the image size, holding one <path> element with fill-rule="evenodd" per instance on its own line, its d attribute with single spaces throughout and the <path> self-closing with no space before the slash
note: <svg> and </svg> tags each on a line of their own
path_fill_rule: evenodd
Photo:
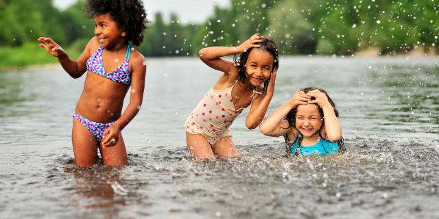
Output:
<svg viewBox="0 0 439 219">
<path fill-rule="evenodd" d="M 42 42 L 43 44 L 40 44 L 40 47 L 44 48 L 47 53 L 50 55 L 54 55 L 55 57 L 58 57 L 58 62 L 60 62 L 62 68 L 69 73 L 69 75 L 73 78 L 78 78 L 84 75 L 86 72 L 86 62 L 88 57 L 90 56 L 90 48 L 89 44 L 91 44 L 91 41 L 94 38 L 92 38 L 88 44 L 86 45 L 84 51 L 82 51 L 81 55 L 78 57 L 77 60 L 71 60 L 69 55 L 67 55 L 66 51 L 60 47 L 54 40 L 51 38 L 45 38 L 40 37 L 38 38 L 39 42 Z"/>
</svg>

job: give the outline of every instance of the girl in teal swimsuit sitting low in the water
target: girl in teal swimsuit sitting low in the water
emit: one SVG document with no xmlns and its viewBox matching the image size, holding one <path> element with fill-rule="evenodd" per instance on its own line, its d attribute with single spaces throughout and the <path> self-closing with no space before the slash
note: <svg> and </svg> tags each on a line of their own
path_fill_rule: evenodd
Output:
<svg viewBox="0 0 439 219">
<path fill-rule="evenodd" d="M 304 88 L 270 114 L 259 129 L 265 136 L 284 136 L 288 154 L 329 155 L 344 151 L 337 116 L 326 91 Z"/>
</svg>

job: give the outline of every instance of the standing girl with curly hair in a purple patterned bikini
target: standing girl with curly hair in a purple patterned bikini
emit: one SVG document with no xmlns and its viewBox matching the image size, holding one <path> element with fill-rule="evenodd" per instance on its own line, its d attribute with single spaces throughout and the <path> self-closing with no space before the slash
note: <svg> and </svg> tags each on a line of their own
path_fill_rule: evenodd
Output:
<svg viewBox="0 0 439 219">
<path fill-rule="evenodd" d="M 123 7 L 122 7 L 123 6 Z M 75 163 L 97 163 L 99 149 L 106 166 L 127 164 L 121 130 L 139 112 L 145 86 L 145 57 L 131 47 L 143 41 L 147 19 L 141 0 L 88 0 L 86 13 L 95 20 L 95 36 L 77 60 L 51 38 L 38 38 L 40 47 L 58 57 L 73 78 L 86 74 L 84 90 L 73 114 Z M 122 113 L 131 86 L 130 103 Z"/>
</svg>

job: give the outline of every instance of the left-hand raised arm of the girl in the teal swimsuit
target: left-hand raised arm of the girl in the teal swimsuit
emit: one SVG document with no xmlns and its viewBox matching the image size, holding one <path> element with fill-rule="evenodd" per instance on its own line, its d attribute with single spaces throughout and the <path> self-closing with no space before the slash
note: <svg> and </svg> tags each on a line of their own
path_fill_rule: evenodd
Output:
<svg viewBox="0 0 439 219">
<path fill-rule="evenodd" d="M 291 131 L 291 129 L 294 129 L 294 127 L 291 127 L 288 121 L 284 118 L 298 105 L 307 105 L 307 102 L 310 99 L 311 96 L 308 96 L 305 94 L 305 92 L 298 90 L 296 94 L 289 99 L 289 101 L 272 112 L 272 114 L 270 114 L 270 116 L 263 121 L 259 127 L 259 130 L 261 130 L 261 133 L 263 133 L 265 136 L 278 137 L 285 135 L 285 133 L 288 133 Z"/>
</svg>

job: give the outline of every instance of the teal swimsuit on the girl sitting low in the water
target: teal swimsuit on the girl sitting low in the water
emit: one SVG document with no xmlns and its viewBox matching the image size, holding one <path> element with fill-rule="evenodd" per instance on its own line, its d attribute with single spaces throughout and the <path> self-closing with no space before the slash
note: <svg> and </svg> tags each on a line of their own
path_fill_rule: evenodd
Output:
<svg viewBox="0 0 439 219">
<path fill-rule="evenodd" d="M 287 152 L 292 153 L 295 155 L 302 156 L 308 156 L 308 155 L 329 155 L 331 153 L 337 153 L 339 150 L 339 144 L 344 143 L 344 139 L 340 139 L 337 142 L 329 142 L 328 140 L 325 140 L 320 135 L 320 139 L 318 142 L 312 146 L 298 146 L 299 139 L 302 138 L 300 133 L 298 134 L 298 137 L 296 140 L 294 140 L 294 143 L 291 144 L 291 142 L 288 140 L 288 137 L 285 135 L 285 142 L 287 144 Z M 341 145 L 342 146 L 342 145 Z"/>
</svg>

